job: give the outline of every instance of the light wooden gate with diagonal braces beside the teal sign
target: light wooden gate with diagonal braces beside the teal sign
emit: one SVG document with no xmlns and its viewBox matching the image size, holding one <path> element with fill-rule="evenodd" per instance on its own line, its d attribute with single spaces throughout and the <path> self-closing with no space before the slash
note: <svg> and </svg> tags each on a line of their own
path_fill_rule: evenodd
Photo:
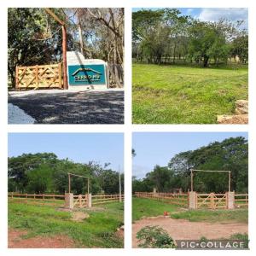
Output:
<svg viewBox="0 0 256 256">
<path fill-rule="evenodd" d="M 61 63 L 16 67 L 16 89 L 62 88 Z"/>
</svg>

